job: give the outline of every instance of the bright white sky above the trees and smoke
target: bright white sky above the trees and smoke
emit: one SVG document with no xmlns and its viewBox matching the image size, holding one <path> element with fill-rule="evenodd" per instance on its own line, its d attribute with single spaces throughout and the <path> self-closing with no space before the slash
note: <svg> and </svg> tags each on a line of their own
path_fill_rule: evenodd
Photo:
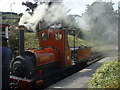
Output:
<svg viewBox="0 0 120 90">
<path fill-rule="evenodd" d="M 3 12 L 16 12 L 16 13 L 25 13 L 26 6 L 21 5 L 22 2 L 34 0 L 0 0 L 0 11 Z M 43 1 L 43 0 L 42 0 Z M 66 8 L 70 9 L 71 14 L 78 14 L 81 15 L 85 12 L 86 5 L 91 5 L 96 0 L 63 0 Z M 97 0 L 97 1 L 112 1 L 115 3 L 113 5 L 114 9 L 118 8 L 118 2 L 120 0 Z"/>
</svg>

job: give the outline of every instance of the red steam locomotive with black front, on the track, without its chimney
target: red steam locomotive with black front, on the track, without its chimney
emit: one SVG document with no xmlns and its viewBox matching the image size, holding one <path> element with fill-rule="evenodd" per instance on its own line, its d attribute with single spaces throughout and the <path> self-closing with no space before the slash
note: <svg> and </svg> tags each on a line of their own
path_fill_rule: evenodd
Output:
<svg viewBox="0 0 120 90">
<path fill-rule="evenodd" d="M 69 47 L 67 36 L 70 31 L 72 30 L 41 30 L 40 48 L 24 51 L 23 55 L 13 60 L 11 85 L 22 89 L 41 87 L 50 76 L 61 74 L 88 60 L 91 57 L 91 48 L 75 45 Z"/>
</svg>

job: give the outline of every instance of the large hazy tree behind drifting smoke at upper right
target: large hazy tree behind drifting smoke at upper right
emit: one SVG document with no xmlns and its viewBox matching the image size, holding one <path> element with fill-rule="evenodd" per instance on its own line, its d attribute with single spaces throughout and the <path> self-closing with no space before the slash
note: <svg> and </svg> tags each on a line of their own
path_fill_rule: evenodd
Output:
<svg viewBox="0 0 120 90">
<path fill-rule="evenodd" d="M 87 5 L 86 12 L 82 18 L 86 21 L 90 38 L 98 42 L 116 43 L 118 32 L 118 17 L 114 12 L 112 2 L 94 2 Z"/>
</svg>

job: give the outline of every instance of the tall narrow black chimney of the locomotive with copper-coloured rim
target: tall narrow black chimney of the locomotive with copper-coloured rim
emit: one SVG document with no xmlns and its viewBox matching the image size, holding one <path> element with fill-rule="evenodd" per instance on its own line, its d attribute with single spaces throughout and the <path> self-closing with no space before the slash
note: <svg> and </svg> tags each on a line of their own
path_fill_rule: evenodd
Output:
<svg viewBox="0 0 120 90">
<path fill-rule="evenodd" d="M 19 26 L 19 53 L 21 56 L 24 56 L 24 30 L 23 25 Z"/>
</svg>

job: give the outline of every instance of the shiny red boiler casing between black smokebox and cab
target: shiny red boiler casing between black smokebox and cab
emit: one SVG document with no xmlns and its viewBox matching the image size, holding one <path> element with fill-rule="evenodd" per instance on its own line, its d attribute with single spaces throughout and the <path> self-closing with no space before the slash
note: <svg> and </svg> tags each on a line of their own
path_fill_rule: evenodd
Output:
<svg viewBox="0 0 120 90">
<path fill-rule="evenodd" d="M 59 61 L 59 53 L 56 49 L 43 48 L 43 50 L 34 49 L 29 51 L 35 54 L 37 66 Z"/>
</svg>

